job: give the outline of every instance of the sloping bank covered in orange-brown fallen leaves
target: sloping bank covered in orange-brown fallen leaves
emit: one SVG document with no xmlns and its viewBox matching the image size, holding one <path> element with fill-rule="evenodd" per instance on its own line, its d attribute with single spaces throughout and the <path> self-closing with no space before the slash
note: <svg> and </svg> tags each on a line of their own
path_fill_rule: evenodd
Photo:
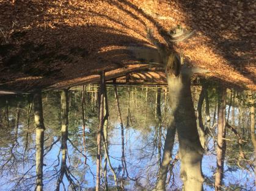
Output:
<svg viewBox="0 0 256 191">
<path fill-rule="evenodd" d="M 256 90 L 253 1 L 0 0 L 0 89 L 61 88 L 147 68 L 128 47 L 152 47 L 180 24 L 196 35 L 175 43 L 210 77 Z M 160 26 L 160 27 L 159 27 Z M 119 75 L 120 74 L 120 75 Z M 157 72 L 155 75 L 158 75 Z"/>
</svg>

